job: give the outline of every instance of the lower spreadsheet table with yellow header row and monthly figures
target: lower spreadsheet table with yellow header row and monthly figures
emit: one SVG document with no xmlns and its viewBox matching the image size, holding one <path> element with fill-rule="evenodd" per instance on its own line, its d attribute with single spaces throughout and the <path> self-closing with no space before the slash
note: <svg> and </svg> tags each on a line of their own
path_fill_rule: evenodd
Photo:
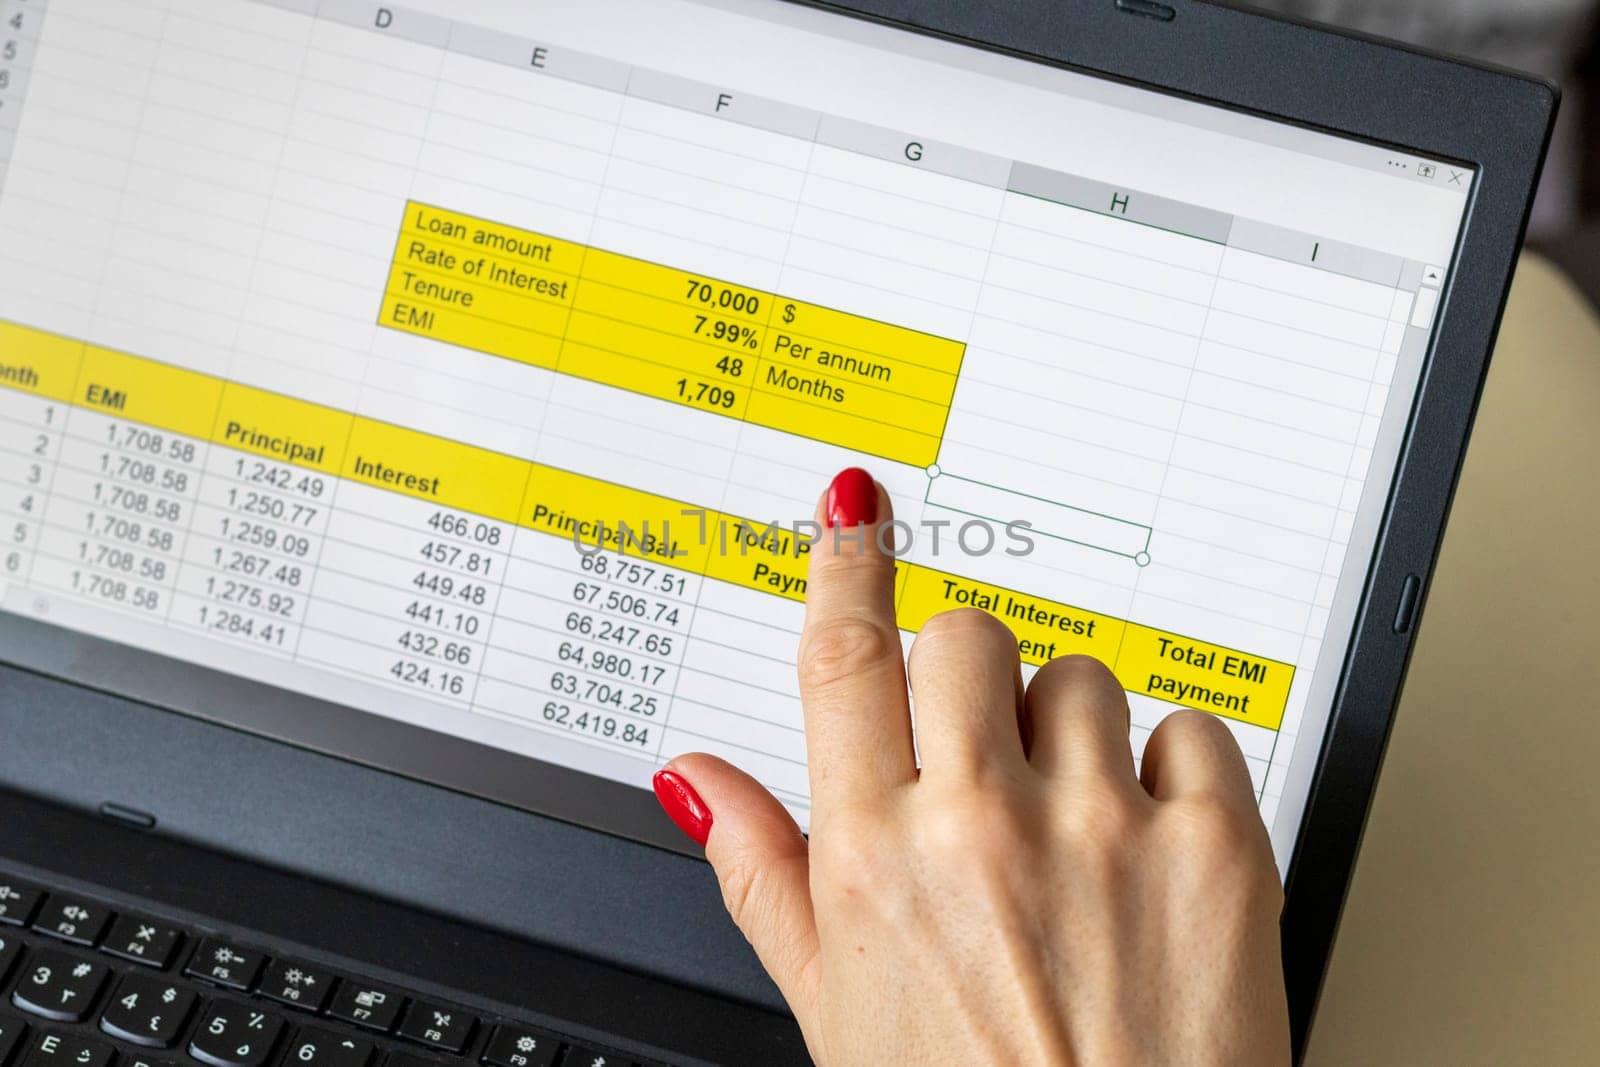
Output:
<svg viewBox="0 0 1600 1067">
<path fill-rule="evenodd" d="M 795 725 L 717 697 L 718 649 L 755 638 L 710 606 L 803 600 L 795 531 L 24 326 L 0 352 L 5 581 L 645 760 L 722 739 L 805 797 Z M 1293 678 L 925 565 L 898 605 L 907 632 L 987 608 L 1027 662 L 1093 653 L 1267 729 Z"/>
</svg>

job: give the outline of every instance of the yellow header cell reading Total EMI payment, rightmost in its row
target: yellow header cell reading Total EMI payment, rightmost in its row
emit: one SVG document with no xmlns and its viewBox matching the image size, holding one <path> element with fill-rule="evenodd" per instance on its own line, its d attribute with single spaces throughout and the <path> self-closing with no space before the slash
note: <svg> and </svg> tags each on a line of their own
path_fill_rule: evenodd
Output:
<svg viewBox="0 0 1600 1067">
<path fill-rule="evenodd" d="M 1134 622 L 1122 641 L 1117 680 L 1130 693 L 1277 729 L 1294 667 Z"/>
</svg>

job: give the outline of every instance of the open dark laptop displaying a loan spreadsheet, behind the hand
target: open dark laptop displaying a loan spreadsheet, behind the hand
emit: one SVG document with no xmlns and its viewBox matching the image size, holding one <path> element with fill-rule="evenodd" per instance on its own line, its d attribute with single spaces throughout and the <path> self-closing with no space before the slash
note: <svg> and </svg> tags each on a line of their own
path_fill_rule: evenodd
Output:
<svg viewBox="0 0 1600 1067">
<path fill-rule="evenodd" d="M 1190 0 L 0 0 L 0 1067 L 798 1064 L 648 782 L 907 641 L 1238 739 L 1304 1049 L 1555 93 Z"/>
</svg>

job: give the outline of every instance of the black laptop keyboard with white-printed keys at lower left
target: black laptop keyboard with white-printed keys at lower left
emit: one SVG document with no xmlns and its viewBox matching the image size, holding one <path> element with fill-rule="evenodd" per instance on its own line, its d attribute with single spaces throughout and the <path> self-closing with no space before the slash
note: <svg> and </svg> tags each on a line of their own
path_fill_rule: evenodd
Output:
<svg viewBox="0 0 1600 1067">
<path fill-rule="evenodd" d="M 5 875 L 0 990 L 0 1067 L 637 1067 Z"/>
</svg>

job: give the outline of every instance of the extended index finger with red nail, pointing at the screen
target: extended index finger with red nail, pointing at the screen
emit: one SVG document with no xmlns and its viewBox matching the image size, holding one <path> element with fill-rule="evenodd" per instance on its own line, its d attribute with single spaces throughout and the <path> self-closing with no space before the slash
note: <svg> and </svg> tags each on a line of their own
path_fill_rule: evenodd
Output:
<svg viewBox="0 0 1600 1067">
<path fill-rule="evenodd" d="M 906 656 L 894 621 L 894 518 L 888 493 L 851 467 L 818 504 L 800 702 L 811 805 L 870 803 L 917 776 Z"/>
</svg>

